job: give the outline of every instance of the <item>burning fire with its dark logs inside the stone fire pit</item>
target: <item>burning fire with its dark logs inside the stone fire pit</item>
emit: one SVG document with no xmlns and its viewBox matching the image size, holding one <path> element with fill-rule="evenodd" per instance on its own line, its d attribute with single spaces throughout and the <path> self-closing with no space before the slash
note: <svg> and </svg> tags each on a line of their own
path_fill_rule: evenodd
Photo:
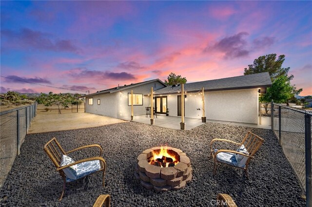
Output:
<svg viewBox="0 0 312 207">
<path fill-rule="evenodd" d="M 149 158 L 149 164 L 161 168 L 173 167 L 179 162 L 177 156 L 172 150 L 168 150 L 166 146 L 161 146 L 160 150 L 153 151 L 153 155 Z"/>
</svg>

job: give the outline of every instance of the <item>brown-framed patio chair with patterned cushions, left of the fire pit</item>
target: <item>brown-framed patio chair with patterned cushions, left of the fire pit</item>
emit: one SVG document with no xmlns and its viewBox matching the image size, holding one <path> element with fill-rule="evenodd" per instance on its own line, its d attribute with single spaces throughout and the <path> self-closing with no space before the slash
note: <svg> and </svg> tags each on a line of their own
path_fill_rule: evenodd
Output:
<svg viewBox="0 0 312 207">
<path fill-rule="evenodd" d="M 99 156 L 89 157 L 78 161 L 75 161 L 68 156 L 68 154 L 72 152 L 88 147 L 97 147 L 99 149 Z M 73 182 L 80 178 L 86 177 L 92 173 L 103 171 L 103 187 L 104 187 L 106 162 L 101 157 L 103 150 L 101 146 L 99 146 L 98 144 L 85 145 L 70 150 L 68 152 L 65 152 L 63 148 L 60 146 L 58 140 L 56 138 L 52 138 L 44 145 L 43 149 L 56 166 L 59 175 L 63 178 L 63 190 L 59 197 L 59 201 L 61 201 L 63 198 L 66 183 Z"/>
</svg>

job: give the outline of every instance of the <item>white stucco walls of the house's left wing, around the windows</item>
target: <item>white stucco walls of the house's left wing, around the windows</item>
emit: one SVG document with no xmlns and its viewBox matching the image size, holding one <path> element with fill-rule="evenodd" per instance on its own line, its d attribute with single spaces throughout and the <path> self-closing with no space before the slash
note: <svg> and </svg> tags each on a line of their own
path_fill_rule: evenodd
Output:
<svg viewBox="0 0 312 207">
<path fill-rule="evenodd" d="M 163 85 L 159 82 L 153 82 L 142 86 L 135 86 L 126 90 L 121 90 L 110 94 L 98 94 L 89 96 L 93 98 L 93 105 L 88 104 L 88 98 L 86 99 L 86 112 L 92 114 L 99 114 L 109 117 L 115 117 L 120 119 L 130 119 L 131 117 L 131 105 L 128 105 L 128 93 L 143 94 L 143 105 L 134 105 L 134 116 L 144 115 L 145 106 L 149 106 L 150 97 L 144 96 L 151 93 L 151 87 L 155 89 L 162 88 Z M 101 103 L 98 105 L 98 99 Z"/>
</svg>

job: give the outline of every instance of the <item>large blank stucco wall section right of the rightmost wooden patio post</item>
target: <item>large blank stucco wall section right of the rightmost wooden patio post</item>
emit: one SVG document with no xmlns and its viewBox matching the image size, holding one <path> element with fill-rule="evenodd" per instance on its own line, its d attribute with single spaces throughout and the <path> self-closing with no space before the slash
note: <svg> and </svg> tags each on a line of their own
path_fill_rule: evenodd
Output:
<svg viewBox="0 0 312 207">
<path fill-rule="evenodd" d="M 258 89 L 205 92 L 209 120 L 258 123 Z"/>
</svg>

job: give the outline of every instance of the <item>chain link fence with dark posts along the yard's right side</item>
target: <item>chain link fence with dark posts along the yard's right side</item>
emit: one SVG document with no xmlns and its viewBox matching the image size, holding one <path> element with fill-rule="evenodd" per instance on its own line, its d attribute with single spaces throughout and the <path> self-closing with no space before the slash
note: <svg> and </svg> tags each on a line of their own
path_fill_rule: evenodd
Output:
<svg viewBox="0 0 312 207">
<path fill-rule="evenodd" d="M 280 104 L 272 103 L 272 106 L 273 110 L 270 104 L 272 130 L 306 191 L 307 205 L 311 205 L 312 114 Z"/>
</svg>

